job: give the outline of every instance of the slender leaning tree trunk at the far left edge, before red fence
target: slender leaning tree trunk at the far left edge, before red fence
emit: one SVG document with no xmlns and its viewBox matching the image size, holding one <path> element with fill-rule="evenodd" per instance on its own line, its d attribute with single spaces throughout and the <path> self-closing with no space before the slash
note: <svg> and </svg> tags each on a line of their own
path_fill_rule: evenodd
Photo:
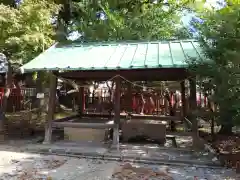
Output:
<svg viewBox="0 0 240 180">
<path fill-rule="evenodd" d="M 4 90 L 4 96 L 2 100 L 2 108 L 1 108 L 1 119 L 0 119 L 0 133 L 5 134 L 5 125 L 6 125 L 6 111 L 7 111 L 7 101 L 10 95 L 11 86 L 12 86 L 12 66 L 8 63 L 8 71 L 6 74 L 6 85 Z"/>
</svg>

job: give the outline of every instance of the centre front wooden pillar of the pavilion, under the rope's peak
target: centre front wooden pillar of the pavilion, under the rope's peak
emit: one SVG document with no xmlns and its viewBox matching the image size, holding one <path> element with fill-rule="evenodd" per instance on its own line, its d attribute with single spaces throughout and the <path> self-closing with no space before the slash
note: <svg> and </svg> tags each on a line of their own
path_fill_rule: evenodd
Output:
<svg viewBox="0 0 240 180">
<path fill-rule="evenodd" d="M 121 79 L 115 78 L 115 101 L 114 101 L 114 129 L 113 129 L 113 146 L 119 145 L 119 125 L 120 125 L 120 96 L 121 96 Z"/>
</svg>

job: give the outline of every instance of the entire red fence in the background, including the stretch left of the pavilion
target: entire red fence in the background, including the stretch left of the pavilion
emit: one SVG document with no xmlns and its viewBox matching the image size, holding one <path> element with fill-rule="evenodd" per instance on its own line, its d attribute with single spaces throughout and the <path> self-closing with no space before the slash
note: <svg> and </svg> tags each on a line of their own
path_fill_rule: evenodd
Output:
<svg viewBox="0 0 240 180">
<path fill-rule="evenodd" d="M 4 88 L 0 88 L 0 105 L 2 106 L 2 99 L 4 95 Z M 68 99 L 68 95 L 64 95 Z M 202 96 L 202 95 L 201 95 Z M 71 97 L 69 96 L 69 99 Z M 131 111 L 135 113 L 145 113 L 145 114 L 165 114 L 169 112 L 169 104 L 161 95 L 154 94 L 145 96 L 145 105 L 142 106 L 142 98 L 139 94 L 132 94 L 132 100 L 129 102 L 127 97 L 121 98 L 121 109 L 122 111 Z M 187 98 L 188 99 L 188 98 Z M 8 98 L 7 111 L 14 112 L 19 110 L 27 110 L 29 106 L 33 106 L 36 101 L 36 88 L 11 88 L 10 96 Z M 188 100 L 187 100 L 188 101 Z M 86 110 L 92 109 L 97 112 L 108 111 L 113 108 L 110 105 L 110 97 L 89 97 L 85 94 L 85 104 L 84 107 Z M 75 102 L 79 104 L 80 102 Z M 177 98 L 172 95 L 171 104 L 176 104 L 176 108 L 181 107 L 181 95 Z M 207 106 L 206 98 L 197 96 L 197 104 L 201 107 Z M 143 110 L 142 110 L 143 108 Z"/>
</svg>

